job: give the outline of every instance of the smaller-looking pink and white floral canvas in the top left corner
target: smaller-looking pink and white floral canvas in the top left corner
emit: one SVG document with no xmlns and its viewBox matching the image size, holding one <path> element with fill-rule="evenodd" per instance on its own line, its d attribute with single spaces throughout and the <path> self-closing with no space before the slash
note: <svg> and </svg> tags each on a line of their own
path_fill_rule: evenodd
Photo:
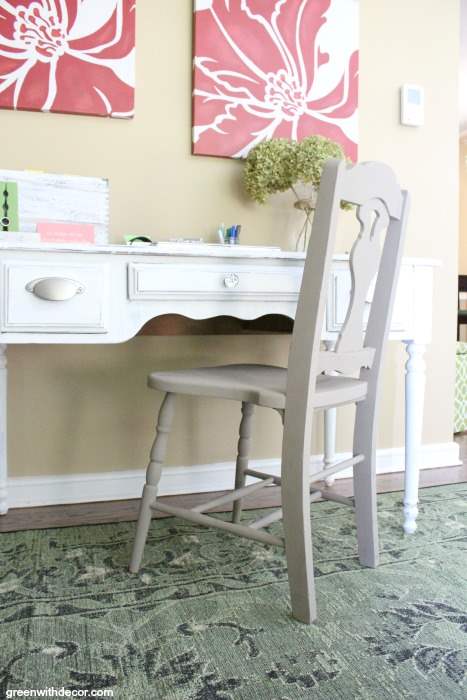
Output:
<svg viewBox="0 0 467 700">
<path fill-rule="evenodd" d="M 135 0 L 0 0 L 0 108 L 131 117 Z"/>
</svg>

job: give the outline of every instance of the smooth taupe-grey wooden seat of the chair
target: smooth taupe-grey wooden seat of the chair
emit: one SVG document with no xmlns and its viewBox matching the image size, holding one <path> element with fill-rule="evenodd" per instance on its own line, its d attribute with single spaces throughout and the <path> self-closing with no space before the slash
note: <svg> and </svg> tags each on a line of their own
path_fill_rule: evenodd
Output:
<svg viewBox="0 0 467 700">
<path fill-rule="evenodd" d="M 246 401 L 268 408 L 285 408 L 287 370 L 270 365 L 224 365 L 174 372 L 153 372 L 148 377 L 152 389 L 172 394 L 212 396 Z M 361 401 L 367 383 L 360 379 L 320 374 L 316 383 L 315 408 Z"/>
</svg>

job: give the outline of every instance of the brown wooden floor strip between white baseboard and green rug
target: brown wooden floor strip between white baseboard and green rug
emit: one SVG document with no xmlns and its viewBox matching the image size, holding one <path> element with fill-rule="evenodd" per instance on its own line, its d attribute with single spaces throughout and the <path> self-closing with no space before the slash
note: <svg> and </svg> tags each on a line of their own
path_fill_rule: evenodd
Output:
<svg viewBox="0 0 467 700">
<path fill-rule="evenodd" d="M 420 487 L 442 486 L 467 482 L 467 433 L 455 437 L 460 445 L 463 464 L 442 469 L 427 469 L 420 473 Z M 403 488 L 403 473 L 380 474 L 378 476 L 378 492 L 400 491 Z M 338 479 L 333 487 L 336 493 L 343 496 L 352 495 L 352 480 Z M 210 493 L 209 498 L 216 495 Z M 206 494 L 187 496 L 165 496 L 161 501 L 176 506 L 190 508 L 202 503 Z M 42 506 L 41 508 L 17 508 L 10 510 L 7 515 L 0 516 L 0 532 L 15 530 L 31 530 L 48 527 L 69 527 L 73 525 L 91 525 L 98 523 L 127 522 L 136 520 L 138 515 L 138 499 L 129 501 L 106 501 L 104 503 L 78 503 L 65 506 Z M 263 489 L 245 502 L 245 508 L 268 508 L 280 504 L 280 489 L 270 487 Z M 225 510 L 219 508 L 219 510 Z M 157 513 L 156 517 L 166 517 Z"/>
</svg>

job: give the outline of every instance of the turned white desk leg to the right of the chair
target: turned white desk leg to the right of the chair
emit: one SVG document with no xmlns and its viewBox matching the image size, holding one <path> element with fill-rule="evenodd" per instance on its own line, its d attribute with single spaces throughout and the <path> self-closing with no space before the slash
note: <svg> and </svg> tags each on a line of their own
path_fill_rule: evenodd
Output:
<svg viewBox="0 0 467 700">
<path fill-rule="evenodd" d="M 411 535 L 417 529 L 418 481 L 422 444 L 423 403 L 425 396 L 426 346 L 404 340 L 408 359 L 405 365 L 405 489 L 404 531 Z"/>
</svg>

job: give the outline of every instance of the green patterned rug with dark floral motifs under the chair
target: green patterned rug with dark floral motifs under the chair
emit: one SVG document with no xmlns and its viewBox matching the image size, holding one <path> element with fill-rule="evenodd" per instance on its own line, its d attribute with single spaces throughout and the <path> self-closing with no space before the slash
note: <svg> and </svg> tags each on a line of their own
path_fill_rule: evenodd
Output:
<svg viewBox="0 0 467 700">
<path fill-rule="evenodd" d="M 379 498 L 376 570 L 358 563 L 351 511 L 313 506 L 310 627 L 290 617 L 283 554 L 220 531 L 153 521 L 139 575 L 133 523 L 2 534 L 0 697 L 466 698 L 467 484 L 423 490 L 412 537 L 400 501 Z"/>
</svg>

